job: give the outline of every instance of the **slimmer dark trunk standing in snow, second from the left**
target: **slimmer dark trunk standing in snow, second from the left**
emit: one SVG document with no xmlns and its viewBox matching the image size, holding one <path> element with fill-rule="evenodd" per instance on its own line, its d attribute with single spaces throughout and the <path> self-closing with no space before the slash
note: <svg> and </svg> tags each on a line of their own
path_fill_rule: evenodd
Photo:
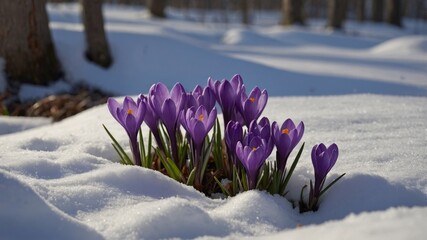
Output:
<svg viewBox="0 0 427 240">
<path fill-rule="evenodd" d="M 101 67 L 113 63 L 102 16 L 102 0 L 80 0 L 86 36 L 86 57 Z"/>
</svg>

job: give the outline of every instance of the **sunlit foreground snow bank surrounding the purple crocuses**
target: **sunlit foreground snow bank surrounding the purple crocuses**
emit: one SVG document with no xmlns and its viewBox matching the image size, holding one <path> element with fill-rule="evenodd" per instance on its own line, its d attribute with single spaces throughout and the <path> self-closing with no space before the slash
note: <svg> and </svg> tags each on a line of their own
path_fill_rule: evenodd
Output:
<svg viewBox="0 0 427 240">
<path fill-rule="evenodd" d="M 39 209 L 1 214 L 8 230 L 0 229 L 0 236 L 22 239 L 25 236 L 16 232 L 31 228 L 28 232 L 35 236 L 50 232 L 61 238 L 82 234 L 85 239 L 240 238 L 278 232 L 304 237 L 327 228 L 333 238 L 352 223 L 371 236 L 371 231 L 409 224 L 425 214 L 425 106 L 426 98 L 419 97 L 271 98 L 265 116 L 276 121 L 292 117 L 306 125 L 307 148 L 289 183 L 289 200 L 297 200 L 302 185 L 312 178 L 309 152 L 316 143 L 336 142 L 340 147 L 329 181 L 347 173 L 326 194 L 318 212 L 302 215 L 288 200 L 265 192 L 214 200 L 159 172 L 118 164 L 101 123 L 123 145 L 128 141 L 105 105 L 59 123 L 0 136 L 0 189 L 6 192 L 0 206 Z M 143 131 L 148 132 L 146 126 Z M 418 210 L 393 210 L 402 206 Z M 35 220 L 40 216 L 46 221 Z M 378 218 L 390 224 L 372 225 Z M 27 221 L 23 219 L 31 224 L 21 225 Z M 365 219 L 371 220 L 365 225 Z M 297 228 L 300 225 L 307 227 Z M 421 233 L 425 228 L 407 234 Z"/>
</svg>

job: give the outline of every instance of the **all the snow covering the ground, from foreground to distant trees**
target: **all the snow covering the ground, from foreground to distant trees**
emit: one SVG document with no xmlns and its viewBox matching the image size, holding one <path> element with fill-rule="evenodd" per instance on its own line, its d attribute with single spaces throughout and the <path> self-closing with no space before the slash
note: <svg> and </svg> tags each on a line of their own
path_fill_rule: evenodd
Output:
<svg viewBox="0 0 427 240">
<path fill-rule="evenodd" d="M 119 164 L 101 124 L 123 145 L 128 140 L 105 105 L 57 123 L 1 117 L 0 239 L 390 240 L 427 234 L 425 35 L 369 24 L 350 36 L 316 27 L 200 25 L 173 11 L 171 20 L 157 21 L 138 8 L 108 6 L 115 62 L 104 70 L 84 60 L 77 6 L 48 9 L 67 82 L 122 99 L 157 81 L 180 81 L 190 91 L 208 76 L 240 73 L 248 88 L 267 88 L 264 116 L 305 123 L 306 148 L 289 200 L 313 178 L 310 148 L 317 143 L 340 148 L 328 181 L 347 174 L 319 211 L 300 214 L 287 199 L 265 192 L 211 199 L 159 172 Z M 24 88 L 21 95 L 34 92 Z M 142 130 L 148 132 L 145 125 Z"/>
</svg>

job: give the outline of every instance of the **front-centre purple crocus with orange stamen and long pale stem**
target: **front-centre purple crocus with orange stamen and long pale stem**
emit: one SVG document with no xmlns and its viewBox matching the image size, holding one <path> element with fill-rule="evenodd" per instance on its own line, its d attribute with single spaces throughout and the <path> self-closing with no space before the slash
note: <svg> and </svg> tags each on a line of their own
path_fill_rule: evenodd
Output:
<svg viewBox="0 0 427 240">
<path fill-rule="evenodd" d="M 194 178 L 194 186 L 196 189 L 201 189 L 201 160 L 204 159 L 203 154 L 203 143 L 206 135 L 212 129 L 216 119 L 215 107 L 212 111 L 206 111 L 205 106 L 201 105 L 197 109 L 191 107 L 186 111 L 182 111 L 180 115 L 180 121 L 184 129 L 191 137 L 191 150 L 193 154 L 193 165 L 196 169 Z"/>
</svg>

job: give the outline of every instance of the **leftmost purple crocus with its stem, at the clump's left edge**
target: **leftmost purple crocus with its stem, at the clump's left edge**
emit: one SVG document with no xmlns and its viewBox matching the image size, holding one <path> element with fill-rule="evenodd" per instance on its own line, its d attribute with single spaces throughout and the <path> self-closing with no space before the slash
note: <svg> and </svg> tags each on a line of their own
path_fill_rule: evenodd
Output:
<svg viewBox="0 0 427 240">
<path fill-rule="evenodd" d="M 129 136 L 135 165 L 141 166 L 138 131 L 147 110 L 145 102 L 141 97 L 138 97 L 137 102 L 131 97 L 125 97 L 123 104 L 120 104 L 114 98 L 108 98 L 107 105 L 111 115 L 123 126 Z"/>
</svg>

